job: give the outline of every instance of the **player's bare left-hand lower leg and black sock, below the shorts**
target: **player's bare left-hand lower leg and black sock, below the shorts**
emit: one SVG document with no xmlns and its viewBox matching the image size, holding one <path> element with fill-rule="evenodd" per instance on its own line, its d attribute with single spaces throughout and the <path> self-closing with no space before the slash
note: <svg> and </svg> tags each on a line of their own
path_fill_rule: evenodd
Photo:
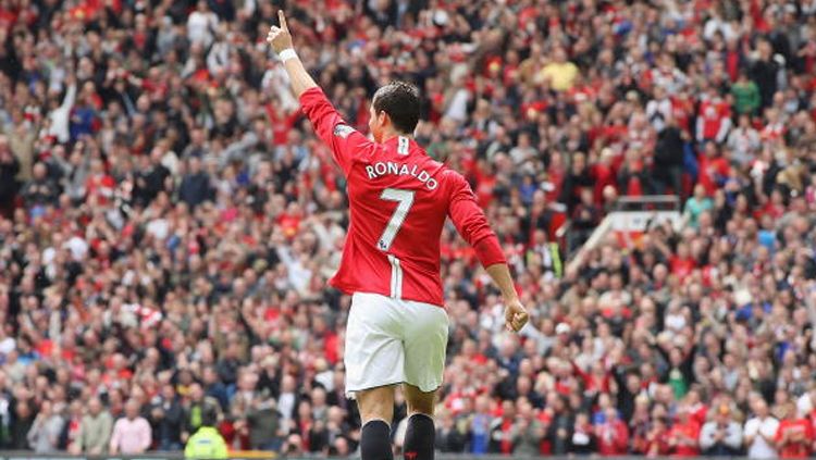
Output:
<svg viewBox="0 0 816 460">
<path fill-rule="evenodd" d="M 392 460 L 391 421 L 394 419 L 395 385 L 364 389 L 356 393 L 360 409 L 362 433 L 360 457 L 362 460 Z"/>
</svg>

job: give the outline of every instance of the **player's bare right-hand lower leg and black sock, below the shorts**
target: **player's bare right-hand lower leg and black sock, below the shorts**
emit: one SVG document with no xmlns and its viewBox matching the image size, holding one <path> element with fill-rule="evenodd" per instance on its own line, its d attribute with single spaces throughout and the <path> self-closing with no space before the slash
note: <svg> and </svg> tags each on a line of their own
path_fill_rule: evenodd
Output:
<svg viewBox="0 0 816 460">
<path fill-rule="evenodd" d="M 433 409 L 436 390 L 422 391 L 409 384 L 403 385 L 408 403 L 408 426 L 405 431 L 405 460 L 433 460 L 436 427 L 433 423 Z"/>
</svg>

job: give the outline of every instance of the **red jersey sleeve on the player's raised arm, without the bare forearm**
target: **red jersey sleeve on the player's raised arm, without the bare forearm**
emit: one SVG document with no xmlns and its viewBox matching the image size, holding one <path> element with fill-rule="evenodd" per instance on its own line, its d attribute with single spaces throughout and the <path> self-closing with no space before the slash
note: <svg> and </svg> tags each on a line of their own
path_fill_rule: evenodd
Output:
<svg viewBox="0 0 816 460">
<path fill-rule="evenodd" d="M 307 89 L 300 95 L 300 105 L 314 132 L 331 147 L 335 163 L 346 176 L 356 160 L 366 160 L 372 156 L 375 144 L 346 124 L 322 89 Z"/>
</svg>

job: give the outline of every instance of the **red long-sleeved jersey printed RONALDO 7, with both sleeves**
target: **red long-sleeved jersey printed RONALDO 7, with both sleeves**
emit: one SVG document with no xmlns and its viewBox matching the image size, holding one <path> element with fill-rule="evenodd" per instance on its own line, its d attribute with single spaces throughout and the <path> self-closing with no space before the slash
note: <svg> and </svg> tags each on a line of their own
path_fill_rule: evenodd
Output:
<svg viewBox="0 0 816 460">
<path fill-rule="evenodd" d="M 350 223 L 332 286 L 443 306 L 440 237 L 447 216 L 484 266 L 505 262 L 459 173 L 409 137 L 369 140 L 343 121 L 320 88 L 304 92 L 300 104 L 347 177 Z"/>
</svg>

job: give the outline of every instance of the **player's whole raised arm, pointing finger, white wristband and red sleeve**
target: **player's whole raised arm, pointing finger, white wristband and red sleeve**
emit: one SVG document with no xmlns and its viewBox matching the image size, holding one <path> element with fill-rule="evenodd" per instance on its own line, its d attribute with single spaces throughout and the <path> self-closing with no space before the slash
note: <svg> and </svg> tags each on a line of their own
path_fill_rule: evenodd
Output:
<svg viewBox="0 0 816 460">
<path fill-rule="evenodd" d="M 277 12 L 277 17 L 281 26 L 270 28 L 267 41 L 283 60 L 292 83 L 292 90 L 300 100 L 300 105 L 314 127 L 314 132 L 332 148 L 334 161 L 348 176 L 354 159 L 373 153 L 375 146 L 366 136 L 348 126 L 332 105 L 295 53 L 283 10 Z"/>
</svg>

